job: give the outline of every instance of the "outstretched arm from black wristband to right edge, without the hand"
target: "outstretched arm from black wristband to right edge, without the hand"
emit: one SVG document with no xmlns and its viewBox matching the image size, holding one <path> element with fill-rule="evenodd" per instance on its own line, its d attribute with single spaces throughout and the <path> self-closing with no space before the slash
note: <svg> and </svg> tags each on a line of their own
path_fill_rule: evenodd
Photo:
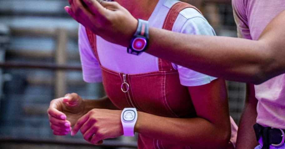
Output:
<svg viewBox="0 0 285 149">
<path fill-rule="evenodd" d="M 257 41 L 150 28 L 146 52 L 211 76 L 259 84 L 285 73 L 283 18 L 285 11 Z"/>
</svg>

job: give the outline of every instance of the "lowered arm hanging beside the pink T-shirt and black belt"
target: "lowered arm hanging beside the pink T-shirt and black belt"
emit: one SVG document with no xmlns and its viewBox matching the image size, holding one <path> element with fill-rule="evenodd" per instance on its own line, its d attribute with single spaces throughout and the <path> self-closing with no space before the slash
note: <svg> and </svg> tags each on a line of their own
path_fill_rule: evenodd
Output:
<svg viewBox="0 0 285 149">
<path fill-rule="evenodd" d="M 254 148 L 258 145 L 253 125 L 256 123 L 258 100 L 253 84 L 247 84 L 247 95 L 237 131 L 236 149 Z"/>
</svg>

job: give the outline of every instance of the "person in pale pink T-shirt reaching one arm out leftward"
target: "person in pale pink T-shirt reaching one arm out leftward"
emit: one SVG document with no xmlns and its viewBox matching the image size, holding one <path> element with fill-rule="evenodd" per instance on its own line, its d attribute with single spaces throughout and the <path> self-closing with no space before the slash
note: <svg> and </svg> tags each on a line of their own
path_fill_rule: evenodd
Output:
<svg viewBox="0 0 285 149">
<path fill-rule="evenodd" d="M 83 1 L 86 7 L 76 3 L 65 10 L 105 40 L 129 45 L 138 25 L 136 18 L 115 2 Z M 248 87 L 250 100 L 242 114 L 237 148 L 253 148 L 257 139 L 260 143 L 257 149 L 283 149 L 285 1 L 232 0 L 232 3 L 240 37 L 245 39 L 185 35 L 149 27 L 149 44 L 144 52 L 211 76 L 256 84 Z M 255 127 L 256 136 L 254 123 L 260 125 Z"/>
</svg>

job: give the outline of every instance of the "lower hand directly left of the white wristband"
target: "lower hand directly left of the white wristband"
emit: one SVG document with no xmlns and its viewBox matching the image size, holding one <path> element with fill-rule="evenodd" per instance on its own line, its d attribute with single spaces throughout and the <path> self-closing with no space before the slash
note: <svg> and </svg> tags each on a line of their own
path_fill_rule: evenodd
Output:
<svg viewBox="0 0 285 149">
<path fill-rule="evenodd" d="M 83 138 L 95 145 L 102 144 L 103 139 L 119 137 L 123 135 L 121 112 L 121 110 L 92 109 L 78 119 L 71 135 L 80 130 Z"/>
</svg>

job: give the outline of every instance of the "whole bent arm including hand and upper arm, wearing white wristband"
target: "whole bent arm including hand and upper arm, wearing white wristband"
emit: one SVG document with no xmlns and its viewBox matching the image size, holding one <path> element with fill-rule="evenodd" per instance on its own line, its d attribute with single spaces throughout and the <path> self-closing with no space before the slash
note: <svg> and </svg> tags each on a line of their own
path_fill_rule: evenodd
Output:
<svg viewBox="0 0 285 149">
<path fill-rule="evenodd" d="M 225 81 L 216 79 L 205 85 L 188 87 L 188 90 L 197 117 L 168 118 L 138 112 L 134 131 L 194 148 L 224 148 L 231 137 Z M 85 140 L 96 145 L 101 144 L 102 139 L 121 136 L 121 112 L 92 109 L 77 121 L 72 135 L 80 130 Z"/>
</svg>

